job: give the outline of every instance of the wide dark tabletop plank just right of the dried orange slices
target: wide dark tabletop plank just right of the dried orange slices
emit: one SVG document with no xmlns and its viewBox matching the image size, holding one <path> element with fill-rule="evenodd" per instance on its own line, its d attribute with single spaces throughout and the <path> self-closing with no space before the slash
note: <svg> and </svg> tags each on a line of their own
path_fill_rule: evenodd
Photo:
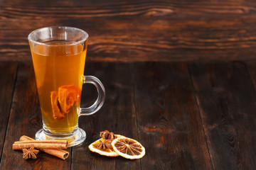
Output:
<svg viewBox="0 0 256 170">
<path fill-rule="evenodd" d="M 134 64 L 142 169 L 212 169 L 186 64 Z"/>
</svg>

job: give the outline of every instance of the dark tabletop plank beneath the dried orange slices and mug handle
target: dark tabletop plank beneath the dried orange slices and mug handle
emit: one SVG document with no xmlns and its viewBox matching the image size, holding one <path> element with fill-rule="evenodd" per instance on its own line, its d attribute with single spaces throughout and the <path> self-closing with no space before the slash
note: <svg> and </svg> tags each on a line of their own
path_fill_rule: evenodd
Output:
<svg viewBox="0 0 256 170">
<path fill-rule="evenodd" d="M 140 160 L 104 157 L 88 149 L 92 142 L 100 139 L 100 131 L 104 130 L 138 140 L 131 64 L 87 63 L 85 75 L 93 75 L 102 81 L 106 99 L 95 115 L 79 118 L 79 126 L 87 132 L 87 138 L 79 147 L 73 147 L 71 169 L 140 169 Z M 96 92 L 95 89 L 88 91 L 87 87 L 87 84 L 83 86 L 82 98 Z"/>
</svg>

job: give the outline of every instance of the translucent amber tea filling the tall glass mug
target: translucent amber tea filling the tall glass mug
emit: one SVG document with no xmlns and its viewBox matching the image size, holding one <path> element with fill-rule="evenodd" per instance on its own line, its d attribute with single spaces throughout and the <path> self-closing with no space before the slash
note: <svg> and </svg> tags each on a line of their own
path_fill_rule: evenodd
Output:
<svg viewBox="0 0 256 170">
<path fill-rule="evenodd" d="M 32 50 L 33 65 L 36 74 L 39 101 L 43 123 L 53 132 L 73 132 L 78 125 L 80 103 L 69 108 L 68 113 L 54 113 L 61 110 L 53 101 L 54 91 L 62 86 L 78 89 L 79 101 L 82 91 L 82 75 L 85 66 L 86 46 L 71 45 L 68 41 L 48 41 L 46 45 L 35 45 Z M 70 98 L 67 98 L 69 100 Z M 67 101 L 66 101 L 67 102 Z M 57 111 L 56 111 L 57 112 Z"/>
</svg>

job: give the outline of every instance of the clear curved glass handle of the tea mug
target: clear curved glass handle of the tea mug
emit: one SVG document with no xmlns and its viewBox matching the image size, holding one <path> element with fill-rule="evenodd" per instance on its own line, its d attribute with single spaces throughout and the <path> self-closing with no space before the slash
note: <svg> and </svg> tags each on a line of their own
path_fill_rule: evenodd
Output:
<svg viewBox="0 0 256 170">
<path fill-rule="evenodd" d="M 82 81 L 83 84 L 95 85 L 98 92 L 97 100 L 95 101 L 95 103 L 92 104 L 92 106 L 88 108 L 80 108 L 80 115 L 92 115 L 100 110 L 105 101 L 105 88 L 102 82 L 99 79 L 97 79 L 97 77 L 83 76 Z"/>
</svg>

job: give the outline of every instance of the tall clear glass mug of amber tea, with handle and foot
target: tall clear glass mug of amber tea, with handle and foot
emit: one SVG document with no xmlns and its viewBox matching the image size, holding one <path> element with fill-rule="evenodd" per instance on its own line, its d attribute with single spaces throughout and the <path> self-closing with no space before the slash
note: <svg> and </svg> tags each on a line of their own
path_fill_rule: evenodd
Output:
<svg viewBox="0 0 256 170">
<path fill-rule="evenodd" d="M 80 115 L 92 115 L 105 101 L 99 79 L 84 76 L 88 34 L 72 27 L 46 27 L 28 35 L 41 106 L 43 129 L 36 140 L 68 140 L 79 145 L 86 138 L 78 128 Z M 82 84 L 93 84 L 98 97 L 92 106 L 80 108 Z"/>
</svg>

